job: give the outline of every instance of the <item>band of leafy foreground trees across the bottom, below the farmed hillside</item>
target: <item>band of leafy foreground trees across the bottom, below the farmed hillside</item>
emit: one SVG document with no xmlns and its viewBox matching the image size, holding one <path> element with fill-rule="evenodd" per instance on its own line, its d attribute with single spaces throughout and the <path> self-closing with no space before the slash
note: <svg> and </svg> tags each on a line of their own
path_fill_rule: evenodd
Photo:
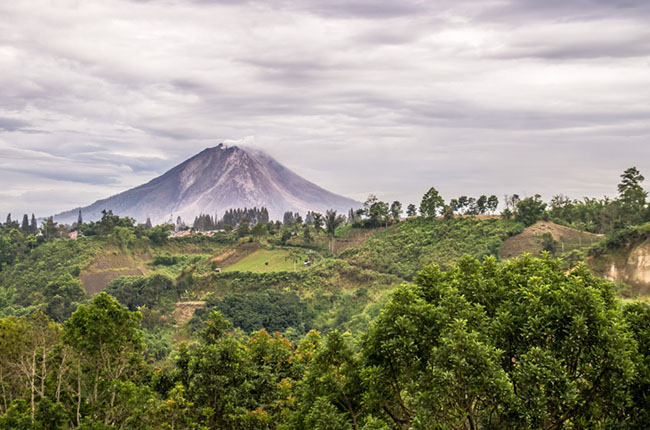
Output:
<svg viewBox="0 0 650 430">
<path fill-rule="evenodd" d="M 267 276 L 269 274 L 258 274 Z M 621 428 L 650 425 L 650 306 L 557 260 L 463 258 L 391 295 L 366 334 L 292 342 L 219 312 L 162 361 L 102 293 L 64 324 L 0 319 L 0 428 Z M 308 324 L 300 298 L 216 300 Z"/>
</svg>

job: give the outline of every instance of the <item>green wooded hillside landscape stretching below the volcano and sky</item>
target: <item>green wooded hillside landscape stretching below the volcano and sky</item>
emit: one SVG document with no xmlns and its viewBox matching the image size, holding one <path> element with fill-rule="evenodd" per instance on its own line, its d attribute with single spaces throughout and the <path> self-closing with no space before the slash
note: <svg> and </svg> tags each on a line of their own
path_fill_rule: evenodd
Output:
<svg viewBox="0 0 650 430">
<path fill-rule="evenodd" d="M 648 298 L 583 262 L 650 239 L 643 176 L 621 178 L 499 215 L 431 188 L 406 219 L 375 196 L 237 225 L 8 217 L 0 429 L 649 428 Z M 602 236 L 499 260 L 539 220 Z"/>
</svg>

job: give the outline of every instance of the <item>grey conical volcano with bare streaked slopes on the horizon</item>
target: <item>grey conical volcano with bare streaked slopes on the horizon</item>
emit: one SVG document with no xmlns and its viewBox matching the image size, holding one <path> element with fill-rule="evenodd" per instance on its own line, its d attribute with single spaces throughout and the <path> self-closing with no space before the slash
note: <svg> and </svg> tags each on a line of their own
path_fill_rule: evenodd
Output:
<svg viewBox="0 0 650 430">
<path fill-rule="evenodd" d="M 219 144 L 144 185 L 60 213 L 54 220 L 75 222 L 81 209 L 84 221 L 95 221 L 110 209 L 139 222 L 151 218 L 159 224 L 180 216 L 187 223 L 201 213 L 221 216 L 227 209 L 254 206 L 265 206 L 272 219 L 282 219 L 285 211 L 304 215 L 336 209 L 346 214 L 362 204 L 324 190 L 261 151 Z"/>
</svg>

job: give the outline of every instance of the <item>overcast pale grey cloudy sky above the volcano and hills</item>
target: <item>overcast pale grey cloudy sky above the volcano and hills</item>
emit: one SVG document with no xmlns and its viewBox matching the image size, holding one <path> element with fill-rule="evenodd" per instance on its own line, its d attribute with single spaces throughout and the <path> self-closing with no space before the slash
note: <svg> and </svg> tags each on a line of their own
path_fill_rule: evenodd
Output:
<svg viewBox="0 0 650 430">
<path fill-rule="evenodd" d="M 223 141 L 359 200 L 614 196 L 650 183 L 650 1 L 0 2 L 0 216 Z"/>
</svg>

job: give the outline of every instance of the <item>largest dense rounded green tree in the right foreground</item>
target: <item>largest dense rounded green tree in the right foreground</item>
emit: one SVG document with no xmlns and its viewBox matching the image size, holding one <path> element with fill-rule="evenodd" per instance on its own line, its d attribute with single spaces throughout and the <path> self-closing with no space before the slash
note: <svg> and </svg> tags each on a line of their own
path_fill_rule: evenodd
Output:
<svg viewBox="0 0 650 430">
<path fill-rule="evenodd" d="M 635 342 L 611 283 L 530 256 L 415 281 L 364 339 L 371 413 L 396 428 L 624 424 Z"/>
</svg>

